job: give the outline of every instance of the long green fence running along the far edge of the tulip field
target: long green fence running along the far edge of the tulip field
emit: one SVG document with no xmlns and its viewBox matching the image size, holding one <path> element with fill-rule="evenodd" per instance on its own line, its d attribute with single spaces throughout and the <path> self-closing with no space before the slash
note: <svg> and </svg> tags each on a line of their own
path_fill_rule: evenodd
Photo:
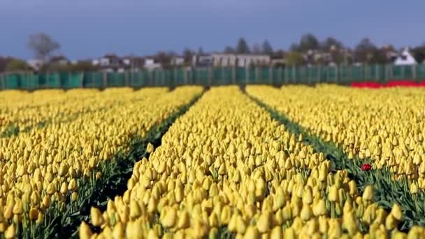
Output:
<svg viewBox="0 0 425 239">
<path fill-rule="evenodd" d="M 171 68 L 123 73 L 8 73 L 0 75 L 0 89 L 177 87 L 179 85 L 285 85 L 320 82 L 348 85 L 351 82 L 425 80 L 425 64 L 415 66 L 314 66 L 314 67 L 217 67 Z"/>
</svg>

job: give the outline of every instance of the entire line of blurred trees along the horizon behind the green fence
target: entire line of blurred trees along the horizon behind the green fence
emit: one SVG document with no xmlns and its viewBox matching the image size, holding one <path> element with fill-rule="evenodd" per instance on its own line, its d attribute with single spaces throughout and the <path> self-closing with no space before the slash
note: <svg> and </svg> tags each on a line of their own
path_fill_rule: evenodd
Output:
<svg viewBox="0 0 425 239">
<path fill-rule="evenodd" d="M 28 39 L 28 47 L 34 53 L 36 59 L 44 64 L 41 71 L 93 71 L 96 66 L 92 66 L 89 61 L 80 61 L 78 64 L 64 65 L 50 61 L 52 54 L 60 49 L 61 45 L 53 40 L 48 34 L 31 34 Z M 313 34 L 304 34 L 298 43 L 291 44 L 289 50 L 273 50 L 268 40 L 254 43 L 252 47 L 245 38 L 239 38 L 233 47 L 228 45 L 223 52 L 228 54 L 261 54 L 270 55 L 273 59 L 284 59 L 287 65 L 301 66 L 304 64 L 328 64 L 332 61 L 335 64 L 352 64 L 354 62 L 366 64 L 387 64 L 391 62 L 391 56 L 398 52 L 393 45 L 378 47 L 369 38 L 363 38 L 354 48 L 348 48 L 336 38 L 328 37 L 320 41 Z M 411 49 L 412 55 L 417 62 L 425 59 L 425 43 Z M 192 64 L 194 55 L 203 55 L 203 49 L 194 51 L 186 48 L 182 52 L 185 65 Z M 164 67 L 171 66 L 171 59 L 178 54 L 175 52 L 158 52 L 154 58 Z M 1 71 L 28 70 L 29 66 L 25 61 L 13 58 L 0 57 Z"/>
</svg>

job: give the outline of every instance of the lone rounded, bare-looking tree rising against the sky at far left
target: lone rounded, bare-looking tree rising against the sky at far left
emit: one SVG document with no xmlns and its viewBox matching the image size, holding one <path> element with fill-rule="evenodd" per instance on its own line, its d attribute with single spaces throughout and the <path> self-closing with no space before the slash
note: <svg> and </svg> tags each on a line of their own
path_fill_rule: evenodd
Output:
<svg viewBox="0 0 425 239">
<path fill-rule="evenodd" d="M 46 61 L 52 52 L 60 48 L 59 43 L 45 33 L 29 35 L 28 46 L 34 52 L 36 58 L 43 61 Z"/>
</svg>

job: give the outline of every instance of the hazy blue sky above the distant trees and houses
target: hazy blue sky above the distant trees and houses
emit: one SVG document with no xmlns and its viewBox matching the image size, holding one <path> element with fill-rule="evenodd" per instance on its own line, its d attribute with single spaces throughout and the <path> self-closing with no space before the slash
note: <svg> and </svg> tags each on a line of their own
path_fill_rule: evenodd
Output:
<svg viewBox="0 0 425 239">
<path fill-rule="evenodd" d="M 223 50 L 240 36 L 287 49 L 308 32 L 399 48 L 425 42 L 424 12 L 424 0 L 0 0 L 0 55 L 31 58 L 27 38 L 41 31 L 71 59 Z"/>
</svg>

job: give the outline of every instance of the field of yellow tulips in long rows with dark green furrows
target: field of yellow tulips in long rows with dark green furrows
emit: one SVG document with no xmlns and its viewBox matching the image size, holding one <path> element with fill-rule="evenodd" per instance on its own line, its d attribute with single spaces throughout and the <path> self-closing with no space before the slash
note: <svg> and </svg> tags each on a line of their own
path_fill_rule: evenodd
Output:
<svg viewBox="0 0 425 239">
<path fill-rule="evenodd" d="M 0 238 L 425 238 L 425 92 L 0 92 Z"/>
</svg>

